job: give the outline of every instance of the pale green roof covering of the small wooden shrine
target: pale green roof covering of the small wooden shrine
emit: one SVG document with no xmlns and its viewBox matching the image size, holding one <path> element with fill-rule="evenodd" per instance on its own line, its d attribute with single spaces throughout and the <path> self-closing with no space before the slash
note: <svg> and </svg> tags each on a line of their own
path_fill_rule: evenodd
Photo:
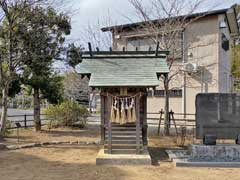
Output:
<svg viewBox="0 0 240 180">
<path fill-rule="evenodd" d="M 153 87 L 159 85 L 158 73 L 168 73 L 166 58 L 92 58 L 83 59 L 80 74 L 91 74 L 91 87 Z"/>
</svg>

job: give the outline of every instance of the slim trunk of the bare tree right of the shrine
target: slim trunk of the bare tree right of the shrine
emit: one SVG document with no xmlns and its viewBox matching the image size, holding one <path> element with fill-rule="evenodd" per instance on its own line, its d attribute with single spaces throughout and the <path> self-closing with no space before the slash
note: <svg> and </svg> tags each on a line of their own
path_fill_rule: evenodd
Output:
<svg viewBox="0 0 240 180">
<path fill-rule="evenodd" d="M 165 90 L 165 105 L 164 105 L 164 135 L 169 136 L 170 122 L 169 122 L 169 84 L 168 76 L 164 78 L 164 90 Z"/>
</svg>

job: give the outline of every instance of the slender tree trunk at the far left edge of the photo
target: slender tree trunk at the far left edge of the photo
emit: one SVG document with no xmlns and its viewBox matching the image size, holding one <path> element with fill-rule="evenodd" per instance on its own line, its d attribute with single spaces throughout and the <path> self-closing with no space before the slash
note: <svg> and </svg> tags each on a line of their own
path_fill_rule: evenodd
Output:
<svg viewBox="0 0 240 180">
<path fill-rule="evenodd" d="M 0 136 L 4 134 L 7 122 L 7 100 L 8 100 L 8 86 L 2 89 L 2 114 L 0 121 Z"/>
</svg>

